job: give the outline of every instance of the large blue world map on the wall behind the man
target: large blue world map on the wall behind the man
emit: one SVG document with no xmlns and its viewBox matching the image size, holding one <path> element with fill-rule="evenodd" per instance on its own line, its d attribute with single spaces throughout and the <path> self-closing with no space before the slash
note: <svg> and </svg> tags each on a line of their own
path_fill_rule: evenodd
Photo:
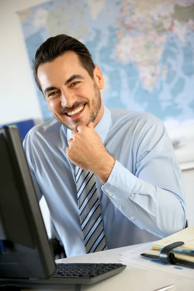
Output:
<svg viewBox="0 0 194 291">
<path fill-rule="evenodd" d="M 194 120 L 194 0 L 53 0 L 20 11 L 30 62 L 48 37 L 83 42 L 108 107 Z M 37 89 L 44 120 L 53 118 Z"/>
</svg>

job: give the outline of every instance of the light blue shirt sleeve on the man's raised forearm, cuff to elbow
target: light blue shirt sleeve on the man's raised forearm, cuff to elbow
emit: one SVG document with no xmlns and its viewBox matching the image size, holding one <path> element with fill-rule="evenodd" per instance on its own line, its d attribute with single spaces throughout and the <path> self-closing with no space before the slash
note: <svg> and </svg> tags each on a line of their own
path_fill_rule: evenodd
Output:
<svg viewBox="0 0 194 291">
<path fill-rule="evenodd" d="M 118 161 L 102 191 L 135 225 L 160 237 L 170 235 L 185 225 L 181 197 L 135 177 Z"/>
</svg>

